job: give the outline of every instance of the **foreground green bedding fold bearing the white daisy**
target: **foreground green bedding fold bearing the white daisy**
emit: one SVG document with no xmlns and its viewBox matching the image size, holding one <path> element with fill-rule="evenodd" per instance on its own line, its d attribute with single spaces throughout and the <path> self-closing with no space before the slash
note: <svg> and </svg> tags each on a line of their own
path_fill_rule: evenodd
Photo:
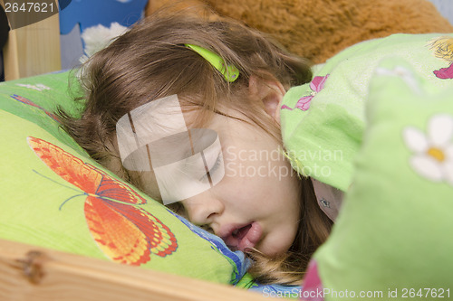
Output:
<svg viewBox="0 0 453 301">
<path fill-rule="evenodd" d="M 352 187 L 313 255 L 307 300 L 451 298 L 453 87 L 399 58 L 371 77 Z"/>
</svg>

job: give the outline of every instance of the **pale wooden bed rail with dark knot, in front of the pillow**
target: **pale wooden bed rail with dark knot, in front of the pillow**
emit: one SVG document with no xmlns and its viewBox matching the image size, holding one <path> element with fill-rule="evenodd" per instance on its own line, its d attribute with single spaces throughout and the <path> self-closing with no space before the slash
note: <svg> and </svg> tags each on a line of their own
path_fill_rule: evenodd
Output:
<svg viewBox="0 0 453 301">
<path fill-rule="evenodd" d="M 240 288 L 0 240 L 0 300 L 268 299 Z"/>
</svg>

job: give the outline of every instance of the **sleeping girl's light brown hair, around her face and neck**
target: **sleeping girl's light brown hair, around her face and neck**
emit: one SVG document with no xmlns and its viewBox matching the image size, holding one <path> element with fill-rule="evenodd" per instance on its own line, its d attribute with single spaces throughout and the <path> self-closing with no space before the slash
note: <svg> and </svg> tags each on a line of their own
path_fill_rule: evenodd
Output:
<svg viewBox="0 0 453 301">
<path fill-rule="evenodd" d="M 226 81 L 185 44 L 216 52 L 236 66 L 238 79 Z M 265 114 L 260 101 L 248 97 L 249 80 L 252 76 L 275 79 L 288 89 L 312 78 L 308 61 L 285 52 L 262 33 L 233 21 L 208 21 L 174 11 L 159 12 L 133 26 L 82 68 L 84 95 L 80 99 L 84 108 L 77 118 L 60 111 L 63 127 L 92 158 L 139 188 L 140 177 L 122 167 L 115 142 L 116 123 L 130 110 L 178 94 L 183 109 L 198 108 L 196 122 L 202 126 L 215 113 L 225 115 L 219 106 L 221 99 L 223 108 L 244 112 L 247 120 L 243 121 L 261 127 L 281 143 L 275 120 Z M 308 259 L 330 230 L 313 200 L 311 182 L 301 181 L 308 194 L 301 196 L 301 230 L 291 255 L 268 260 L 257 252 L 251 254 L 256 261 L 254 275 L 261 282 L 300 281 Z"/>
</svg>

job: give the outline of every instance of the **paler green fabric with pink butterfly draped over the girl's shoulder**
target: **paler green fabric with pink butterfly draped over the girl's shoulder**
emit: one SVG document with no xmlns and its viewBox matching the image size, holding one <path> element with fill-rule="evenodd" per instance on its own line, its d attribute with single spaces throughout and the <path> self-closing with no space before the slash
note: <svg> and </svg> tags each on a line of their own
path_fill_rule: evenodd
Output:
<svg viewBox="0 0 453 301">
<path fill-rule="evenodd" d="M 372 71 L 382 59 L 399 56 L 414 61 L 415 71 L 429 82 L 448 87 L 451 80 L 442 79 L 452 62 L 448 39 L 453 34 L 395 34 L 361 42 L 320 66 L 312 82 L 290 89 L 281 124 L 294 169 L 347 191 L 365 127 L 363 102 Z"/>
</svg>

